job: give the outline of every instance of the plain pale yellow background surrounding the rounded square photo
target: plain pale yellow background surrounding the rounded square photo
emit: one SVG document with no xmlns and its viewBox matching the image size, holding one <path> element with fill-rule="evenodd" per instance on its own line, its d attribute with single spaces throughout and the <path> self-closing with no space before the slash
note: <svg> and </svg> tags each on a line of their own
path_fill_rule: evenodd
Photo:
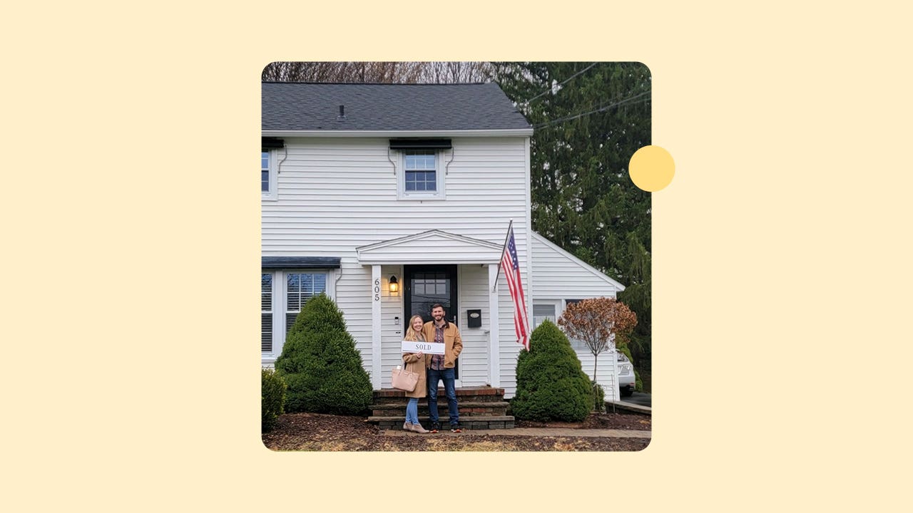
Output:
<svg viewBox="0 0 913 513">
<path fill-rule="evenodd" d="M 0 22 L 0 506 L 910 507 L 907 7 L 126 5 Z M 260 444 L 259 74 L 314 59 L 649 66 L 676 175 L 654 194 L 645 451 Z"/>
</svg>

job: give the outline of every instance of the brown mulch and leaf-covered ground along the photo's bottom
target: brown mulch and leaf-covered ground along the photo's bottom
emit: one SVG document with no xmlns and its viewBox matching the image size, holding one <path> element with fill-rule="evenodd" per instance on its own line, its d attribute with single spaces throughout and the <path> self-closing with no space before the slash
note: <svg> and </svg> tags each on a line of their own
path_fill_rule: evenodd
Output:
<svg viewBox="0 0 913 513">
<path fill-rule="evenodd" d="M 591 414 L 582 423 L 531 423 L 517 427 L 649 430 L 650 417 L 640 414 Z M 525 436 L 510 434 L 415 434 L 385 436 L 364 417 L 328 414 L 284 414 L 263 434 L 274 451 L 640 451 L 649 438 Z"/>
</svg>

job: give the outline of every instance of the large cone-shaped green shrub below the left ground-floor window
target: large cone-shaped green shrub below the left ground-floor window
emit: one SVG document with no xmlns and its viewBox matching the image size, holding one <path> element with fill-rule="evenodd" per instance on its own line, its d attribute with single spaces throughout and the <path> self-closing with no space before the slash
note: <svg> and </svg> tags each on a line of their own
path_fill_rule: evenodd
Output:
<svg viewBox="0 0 913 513">
<path fill-rule="evenodd" d="M 276 370 L 289 386 L 287 412 L 362 414 L 372 386 L 336 303 L 310 298 L 289 330 Z"/>
</svg>

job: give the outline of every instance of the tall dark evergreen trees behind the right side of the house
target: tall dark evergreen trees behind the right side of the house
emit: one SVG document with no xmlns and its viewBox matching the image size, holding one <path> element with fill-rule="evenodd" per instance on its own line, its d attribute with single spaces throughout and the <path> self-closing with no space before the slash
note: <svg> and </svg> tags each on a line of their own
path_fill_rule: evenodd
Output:
<svg viewBox="0 0 913 513">
<path fill-rule="evenodd" d="M 650 144 L 651 78 L 635 62 L 499 62 L 498 85 L 533 125 L 533 229 L 627 288 L 649 361 L 650 194 L 628 176 Z M 641 365 L 645 364 L 642 361 Z"/>
</svg>

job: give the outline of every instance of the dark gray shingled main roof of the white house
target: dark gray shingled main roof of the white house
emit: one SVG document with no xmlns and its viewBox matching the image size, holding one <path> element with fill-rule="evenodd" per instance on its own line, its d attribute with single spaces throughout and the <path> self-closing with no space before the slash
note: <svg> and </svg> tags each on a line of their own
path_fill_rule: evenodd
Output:
<svg viewBox="0 0 913 513">
<path fill-rule="evenodd" d="M 310 84 L 263 82 L 265 131 L 529 129 L 495 83 Z M 345 120 L 339 120 L 340 105 Z"/>
</svg>

